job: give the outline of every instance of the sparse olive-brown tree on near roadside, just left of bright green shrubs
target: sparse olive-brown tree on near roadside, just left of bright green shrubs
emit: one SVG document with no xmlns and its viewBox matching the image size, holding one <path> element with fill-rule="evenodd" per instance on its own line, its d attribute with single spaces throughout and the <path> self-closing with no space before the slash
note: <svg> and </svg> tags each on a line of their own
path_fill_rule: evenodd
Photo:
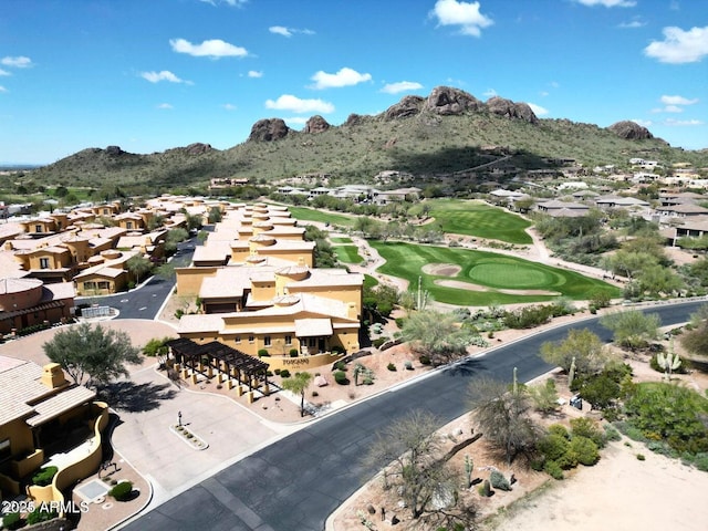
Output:
<svg viewBox="0 0 708 531">
<path fill-rule="evenodd" d="M 470 408 L 483 437 L 510 465 L 519 455 L 530 459 L 543 435 L 531 416 L 532 403 L 524 385 L 479 378 L 469 386 Z"/>
</svg>

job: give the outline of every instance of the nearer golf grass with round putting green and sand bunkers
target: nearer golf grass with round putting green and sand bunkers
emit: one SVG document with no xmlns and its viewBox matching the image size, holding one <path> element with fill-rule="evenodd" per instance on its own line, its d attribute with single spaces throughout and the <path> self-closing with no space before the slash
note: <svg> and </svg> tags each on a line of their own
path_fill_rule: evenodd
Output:
<svg viewBox="0 0 708 531">
<path fill-rule="evenodd" d="M 405 279 L 409 285 L 417 285 L 420 279 L 421 288 L 437 302 L 488 306 L 549 301 L 558 296 L 550 293 L 579 301 L 597 292 L 621 296 L 620 289 L 606 282 L 506 254 L 402 242 L 371 241 L 369 244 L 386 260 L 378 272 Z M 428 264 L 457 266 L 459 273 L 455 277 L 428 274 L 425 272 Z M 449 281 L 459 288 L 440 284 Z M 529 291 L 510 293 L 510 290 Z"/>
</svg>

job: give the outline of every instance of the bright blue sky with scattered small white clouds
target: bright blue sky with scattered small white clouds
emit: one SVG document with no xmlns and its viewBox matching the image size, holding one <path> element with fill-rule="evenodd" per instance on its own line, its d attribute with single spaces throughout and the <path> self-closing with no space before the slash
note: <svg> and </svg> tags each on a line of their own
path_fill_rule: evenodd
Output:
<svg viewBox="0 0 708 531">
<path fill-rule="evenodd" d="M 706 0 L 2 0 L 0 162 L 226 149 L 438 85 L 708 148 Z"/>
</svg>

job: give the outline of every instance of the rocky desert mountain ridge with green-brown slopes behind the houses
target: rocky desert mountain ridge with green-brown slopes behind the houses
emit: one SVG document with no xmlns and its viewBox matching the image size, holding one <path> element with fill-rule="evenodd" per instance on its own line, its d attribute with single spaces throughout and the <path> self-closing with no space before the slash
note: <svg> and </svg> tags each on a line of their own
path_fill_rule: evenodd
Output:
<svg viewBox="0 0 708 531">
<path fill-rule="evenodd" d="M 44 184 L 121 185 L 135 192 L 205 186 L 223 177 L 270 181 L 323 173 L 367 180 L 392 169 L 430 180 L 493 162 L 499 154 L 519 170 L 569 158 L 585 166 L 622 167 L 635 156 L 708 166 L 705 150 L 671 148 L 634 122 L 601 128 L 544 119 L 527 103 L 498 96 L 482 102 L 459 88 L 438 86 L 427 97 L 404 96 L 375 116 L 351 114 L 339 126 L 312 116 L 302 131 L 294 131 L 282 118 L 264 118 L 253 124 L 246 142 L 225 150 L 202 143 L 149 155 L 118 146 L 88 148 L 30 176 Z"/>
</svg>

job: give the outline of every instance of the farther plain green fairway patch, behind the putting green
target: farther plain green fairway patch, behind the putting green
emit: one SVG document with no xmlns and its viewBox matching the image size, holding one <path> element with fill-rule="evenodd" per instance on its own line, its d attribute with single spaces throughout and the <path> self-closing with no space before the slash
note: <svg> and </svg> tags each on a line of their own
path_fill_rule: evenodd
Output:
<svg viewBox="0 0 708 531">
<path fill-rule="evenodd" d="M 456 199 L 434 199 L 429 205 L 430 216 L 440 223 L 442 232 L 524 246 L 533 242 L 525 232 L 531 222 L 503 208 Z"/>
</svg>

